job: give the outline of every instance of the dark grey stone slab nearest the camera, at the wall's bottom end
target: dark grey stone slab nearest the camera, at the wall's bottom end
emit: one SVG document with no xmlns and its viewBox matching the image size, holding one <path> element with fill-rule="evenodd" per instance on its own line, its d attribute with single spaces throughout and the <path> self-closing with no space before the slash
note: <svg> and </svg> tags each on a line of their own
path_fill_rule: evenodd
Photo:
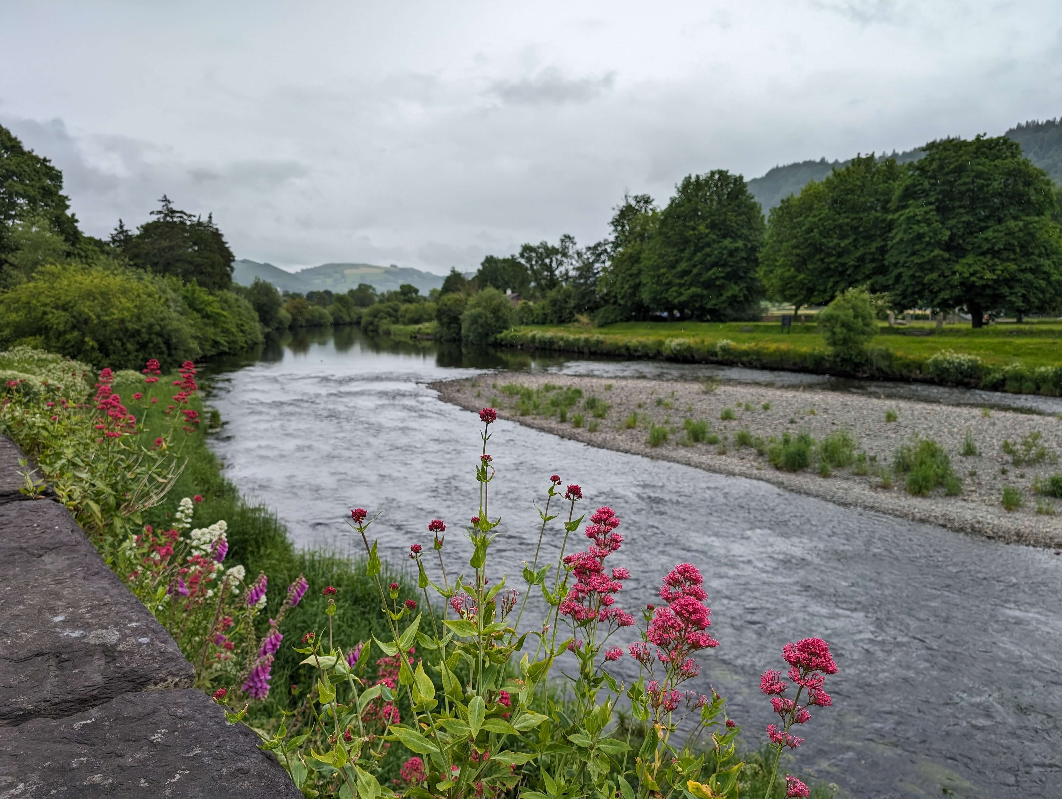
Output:
<svg viewBox="0 0 1062 799">
<path fill-rule="evenodd" d="M 0 799 L 302 797 L 257 744 L 194 689 L 126 694 L 0 728 Z"/>
</svg>

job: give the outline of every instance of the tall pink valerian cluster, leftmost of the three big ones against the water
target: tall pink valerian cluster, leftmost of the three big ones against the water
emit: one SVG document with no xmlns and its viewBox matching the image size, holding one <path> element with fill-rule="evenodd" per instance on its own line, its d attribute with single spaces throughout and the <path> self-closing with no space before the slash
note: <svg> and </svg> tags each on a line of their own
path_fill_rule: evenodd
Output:
<svg viewBox="0 0 1062 799">
<path fill-rule="evenodd" d="M 560 612 L 571 619 L 577 627 L 593 622 L 616 627 L 634 624 L 634 616 L 615 607 L 613 595 L 623 588 L 622 580 L 631 573 L 622 567 L 611 573 L 604 568 L 604 559 L 623 543 L 623 537 L 616 532 L 618 526 L 619 517 L 615 511 L 607 506 L 599 507 L 586 525 L 585 535 L 593 541 L 589 550 L 564 557 L 564 566 L 575 575 L 576 583 L 561 601 Z"/>
</svg>

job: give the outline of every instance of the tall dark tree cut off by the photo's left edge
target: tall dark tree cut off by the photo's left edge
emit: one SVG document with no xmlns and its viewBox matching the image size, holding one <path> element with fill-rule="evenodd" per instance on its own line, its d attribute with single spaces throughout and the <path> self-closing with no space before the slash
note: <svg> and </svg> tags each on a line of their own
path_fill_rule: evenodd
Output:
<svg viewBox="0 0 1062 799">
<path fill-rule="evenodd" d="M 16 248 L 11 236 L 17 222 L 46 227 L 67 245 L 78 245 L 82 235 L 69 209 L 63 173 L 0 125 L 0 265 Z"/>
</svg>

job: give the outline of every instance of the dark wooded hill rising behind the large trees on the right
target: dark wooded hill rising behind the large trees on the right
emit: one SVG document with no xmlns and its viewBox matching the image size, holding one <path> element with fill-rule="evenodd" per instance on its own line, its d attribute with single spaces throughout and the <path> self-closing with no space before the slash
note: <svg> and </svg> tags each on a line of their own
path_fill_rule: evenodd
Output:
<svg viewBox="0 0 1062 799">
<path fill-rule="evenodd" d="M 1044 122 L 1024 122 L 1009 129 L 1004 136 L 1013 139 L 1022 145 L 1026 157 L 1051 176 L 1057 184 L 1062 184 L 1062 118 L 1049 119 Z M 917 161 L 922 157 L 921 150 L 908 150 L 904 153 L 893 151 L 892 158 L 900 163 Z M 884 155 L 881 157 L 885 157 Z M 843 169 L 849 161 L 800 161 L 775 167 L 763 177 L 749 181 L 749 191 L 759 201 L 767 213 L 789 194 L 796 194 L 811 180 L 821 180 L 835 167 Z"/>
</svg>

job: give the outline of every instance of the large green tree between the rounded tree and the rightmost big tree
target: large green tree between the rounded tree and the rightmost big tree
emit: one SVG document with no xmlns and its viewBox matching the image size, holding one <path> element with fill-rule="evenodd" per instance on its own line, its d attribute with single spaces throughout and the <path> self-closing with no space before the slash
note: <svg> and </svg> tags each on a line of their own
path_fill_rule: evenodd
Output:
<svg viewBox="0 0 1062 799">
<path fill-rule="evenodd" d="M 857 156 L 772 208 L 760 253 L 768 295 L 799 310 L 855 285 L 880 291 L 901 175 L 892 158 Z"/>
</svg>

